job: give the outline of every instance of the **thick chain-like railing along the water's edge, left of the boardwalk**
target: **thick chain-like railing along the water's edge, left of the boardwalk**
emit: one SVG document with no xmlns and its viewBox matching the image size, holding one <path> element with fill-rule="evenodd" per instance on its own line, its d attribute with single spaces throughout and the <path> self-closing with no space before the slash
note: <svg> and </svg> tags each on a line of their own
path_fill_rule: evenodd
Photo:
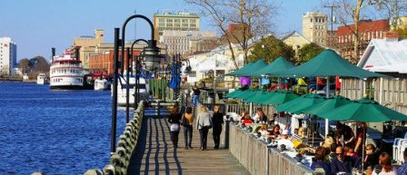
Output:
<svg viewBox="0 0 407 175">
<path fill-rule="evenodd" d="M 124 132 L 117 141 L 117 149 L 111 155 L 110 162 L 104 167 L 104 170 L 87 170 L 84 174 L 104 174 L 104 175 L 125 175 L 130 163 L 132 153 L 139 138 L 140 129 L 144 118 L 144 102 L 141 101 L 134 111 L 134 118 L 128 122 Z"/>
</svg>

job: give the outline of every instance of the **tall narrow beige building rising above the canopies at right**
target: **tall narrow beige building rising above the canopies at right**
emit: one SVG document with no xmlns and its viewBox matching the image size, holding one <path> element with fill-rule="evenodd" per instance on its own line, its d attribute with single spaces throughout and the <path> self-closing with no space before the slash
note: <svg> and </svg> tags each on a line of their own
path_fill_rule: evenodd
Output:
<svg viewBox="0 0 407 175">
<path fill-rule="evenodd" d="M 310 42 L 320 45 L 327 43 L 327 15 L 307 12 L 303 15 L 303 36 Z"/>
</svg>

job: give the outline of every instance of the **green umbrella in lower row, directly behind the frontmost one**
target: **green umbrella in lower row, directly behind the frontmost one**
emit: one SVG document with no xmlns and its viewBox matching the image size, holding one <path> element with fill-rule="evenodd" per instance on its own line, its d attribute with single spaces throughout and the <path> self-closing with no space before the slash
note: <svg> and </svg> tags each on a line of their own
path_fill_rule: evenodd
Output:
<svg viewBox="0 0 407 175">
<path fill-rule="evenodd" d="M 352 101 L 348 98 L 342 97 L 341 95 L 335 95 L 324 102 L 313 105 L 310 108 L 304 109 L 304 113 L 309 113 L 313 115 L 323 115 L 326 112 L 331 112 L 336 108 L 339 108 L 345 104 L 349 104 Z"/>
</svg>

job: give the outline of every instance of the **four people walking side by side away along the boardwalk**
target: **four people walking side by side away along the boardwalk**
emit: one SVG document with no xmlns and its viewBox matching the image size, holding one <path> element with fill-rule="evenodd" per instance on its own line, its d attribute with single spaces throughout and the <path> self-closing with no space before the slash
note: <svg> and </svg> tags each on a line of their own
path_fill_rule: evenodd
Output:
<svg viewBox="0 0 407 175">
<path fill-rule="evenodd" d="M 173 141 L 174 148 L 178 147 L 178 135 L 180 132 L 180 124 L 184 125 L 184 145 L 185 149 L 193 149 L 191 143 L 193 139 L 193 123 L 194 115 L 192 108 L 188 107 L 184 115 L 178 112 L 178 108 L 174 107 L 168 122 L 172 123 L 170 127 L 171 141 Z M 207 148 L 207 136 L 209 129 L 213 128 L 213 142 L 214 149 L 219 149 L 220 136 L 222 132 L 223 113 L 220 112 L 220 106 L 214 107 L 213 116 L 207 111 L 205 106 L 201 107 L 201 112 L 196 119 L 196 129 L 199 130 L 201 138 L 201 150 Z"/>
</svg>

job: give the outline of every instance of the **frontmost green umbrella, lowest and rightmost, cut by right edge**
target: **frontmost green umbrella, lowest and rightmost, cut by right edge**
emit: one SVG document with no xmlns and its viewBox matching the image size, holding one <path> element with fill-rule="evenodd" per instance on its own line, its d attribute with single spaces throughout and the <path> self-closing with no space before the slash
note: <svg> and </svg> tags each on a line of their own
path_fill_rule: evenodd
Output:
<svg viewBox="0 0 407 175">
<path fill-rule="evenodd" d="M 324 118 L 333 121 L 354 121 L 354 122 L 387 122 L 387 121 L 407 121 L 407 116 L 384 107 L 378 102 L 362 98 L 343 105 L 332 112 L 322 114 Z"/>
</svg>

